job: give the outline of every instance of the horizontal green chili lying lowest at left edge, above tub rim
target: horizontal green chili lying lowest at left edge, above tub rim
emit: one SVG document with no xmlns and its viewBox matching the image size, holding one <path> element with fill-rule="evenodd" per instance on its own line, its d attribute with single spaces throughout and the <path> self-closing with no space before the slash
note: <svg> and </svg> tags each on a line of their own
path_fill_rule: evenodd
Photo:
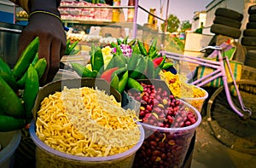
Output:
<svg viewBox="0 0 256 168">
<path fill-rule="evenodd" d="M 26 125 L 26 119 L 17 119 L 12 116 L 0 115 L 0 132 L 20 130 Z"/>
</svg>

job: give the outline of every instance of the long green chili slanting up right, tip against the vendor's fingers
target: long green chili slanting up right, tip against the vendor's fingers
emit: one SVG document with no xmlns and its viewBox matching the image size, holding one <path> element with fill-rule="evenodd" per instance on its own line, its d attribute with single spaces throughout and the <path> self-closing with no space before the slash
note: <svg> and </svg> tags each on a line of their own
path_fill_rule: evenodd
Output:
<svg viewBox="0 0 256 168">
<path fill-rule="evenodd" d="M 15 63 L 13 68 L 13 74 L 15 78 L 21 78 L 22 75 L 26 72 L 26 69 L 32 63 L 37 55 L 39 46 L 39 38 L 35 38 L 26 46 L 26 49 L 21 53 L 19 60 Z"/>
</svg>

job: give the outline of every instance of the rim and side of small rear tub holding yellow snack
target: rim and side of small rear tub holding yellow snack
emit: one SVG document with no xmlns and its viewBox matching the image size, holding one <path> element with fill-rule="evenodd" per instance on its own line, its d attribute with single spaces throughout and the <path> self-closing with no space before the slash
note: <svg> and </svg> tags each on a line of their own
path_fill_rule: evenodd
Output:
<svg viewBox="0 0 256 168">
<path fill-rule="evenodd" d="M 204 104 L 204 101 L 208 97 L 208 92 L 207 92 L 207 90 L 204 90 L 201 87 L 198 87 L 198 86 L 195 86 L 195 85 L 193 85 L 193 87 L 195 87 L 195 88 L 201 90 L 202 92 L 204 92 L 205 96 L 202 96 L 202 97 L 182 97 L 182 100 L 188 102 L 190 105 L 195 107 L 201 113 L 201 108 Z"/>
</svg>

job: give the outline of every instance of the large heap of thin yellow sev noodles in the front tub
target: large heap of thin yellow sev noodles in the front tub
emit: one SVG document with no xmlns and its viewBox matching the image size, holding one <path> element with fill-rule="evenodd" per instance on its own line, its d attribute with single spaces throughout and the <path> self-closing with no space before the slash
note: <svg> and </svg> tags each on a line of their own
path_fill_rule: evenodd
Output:
<svg viewBox="0 0 256 168">
<path fill-rule="evenodd" d="M 67 154 L 102 157 L 137 144 L 136 113 L 102 90 L 64 88 L 45 97 L 36 121 L 38 138 Z"/>
</svg>

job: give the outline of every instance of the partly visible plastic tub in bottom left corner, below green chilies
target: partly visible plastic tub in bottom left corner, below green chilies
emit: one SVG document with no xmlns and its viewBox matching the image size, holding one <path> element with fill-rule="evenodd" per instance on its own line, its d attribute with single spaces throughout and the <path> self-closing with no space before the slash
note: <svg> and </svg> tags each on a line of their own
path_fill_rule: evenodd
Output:
<svg viewBox="0 0 256 168">
<path fill-rule="evenodd" d="M 18 148 L 21 139 L 21 131 L 13 130 L 8 132 L 0 132 L 0 144 L 3 150 L 0 151 L 0 167 L 14 167 L 15 150 Z"/>
</svg>

